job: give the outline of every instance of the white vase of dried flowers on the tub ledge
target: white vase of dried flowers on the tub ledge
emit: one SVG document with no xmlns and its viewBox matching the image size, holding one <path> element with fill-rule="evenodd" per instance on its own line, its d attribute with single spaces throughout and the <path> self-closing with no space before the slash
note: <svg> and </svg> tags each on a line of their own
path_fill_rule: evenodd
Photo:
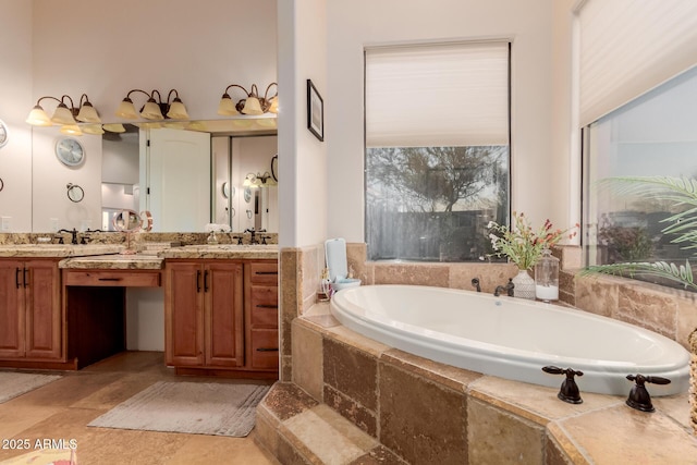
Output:
<svg viewBox="0 0 697 465">
<path fill-rule="evenodd" d="M 577 234 L 578 223 L 566 230 L 553 229 L 548 219 L 536 231 L 524 213 L 513 212 L 513 225 L 490 221 L 487 225 L 492 256 L 505 257 L 518 267 L 518 274 L 513 278 L 513 293 L 516 297 L 535 298 L 535 280 L 528 273 L 542 256 L 545 249 L 558 244 L 562 238 L 572 238 Z"/>
</svg>

